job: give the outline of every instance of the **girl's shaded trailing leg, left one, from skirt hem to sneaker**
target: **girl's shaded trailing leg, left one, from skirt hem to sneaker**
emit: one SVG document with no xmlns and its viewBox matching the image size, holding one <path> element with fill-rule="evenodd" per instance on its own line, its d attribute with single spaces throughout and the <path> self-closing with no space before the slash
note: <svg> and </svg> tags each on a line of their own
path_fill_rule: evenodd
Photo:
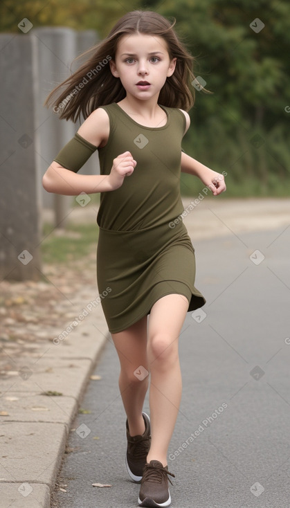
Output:
<svg viewBox="0 0 290 508">
<path fill-rule="evenodd" d="M 148 388 L 148 376 L 140 380 L 134 374 L 142 366 L 143 375 L 147 363 L 147 316 L 118 334 L 111 334 L 120 359 L 119 388 L 128 419 L 130 435 L 142 435 L 145 431 L 142 416 L 143 403 Z M 137 371 L 138 372 L 138 371 Z"/>
</svg>

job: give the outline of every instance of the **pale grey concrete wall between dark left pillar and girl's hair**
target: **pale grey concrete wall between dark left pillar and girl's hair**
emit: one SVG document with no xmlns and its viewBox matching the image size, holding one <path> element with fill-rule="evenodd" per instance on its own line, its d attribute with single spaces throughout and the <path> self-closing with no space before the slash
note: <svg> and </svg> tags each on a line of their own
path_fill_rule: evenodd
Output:
<svg viewBox="0 0 290 508">
<path fill-rule="evenodd" d="M 96 32 L 87 30 L 75 32 L 71 28 L 37 28 L 31 35 L 35 43 L 35 70 L 39 89 L 35 96 L 35 125 L 39 136 L 40 156 L 37 163 L 41 174 L 60 149 L 74 136 L 80 124 L 59 120 L 57 115 L 44 107 L 48 93 L 70 75 L 75 57 L 96 44 Z M 73 70 L 76 65 L 73 65 Z M 98 154 L 94 154 L 80 171 L 83 174 L 99 172 Z M 52 208 L 55 197 L 42 189 L 45 208 Z M 59 199 L 57 197 L 57 199 Z M 72 202 L 71 197 L 61 197 L 62 201 Z M 67 204 L 66 207 L 67 208 Z"/>
</svg>

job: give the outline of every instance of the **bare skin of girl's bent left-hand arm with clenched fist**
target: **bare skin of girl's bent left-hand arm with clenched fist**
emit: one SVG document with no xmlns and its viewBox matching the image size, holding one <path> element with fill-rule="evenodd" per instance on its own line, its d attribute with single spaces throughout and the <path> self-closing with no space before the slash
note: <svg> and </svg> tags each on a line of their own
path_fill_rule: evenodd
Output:
<svg viewBox="0 0 290 508">
<path fill-rule="evenodd" d="M 84 121 L 78 134 L 96 147 L 105 145 L 109 136 L 109 118 L 104 109 L 96 109 Z M 107 192 L 118 189 L 125 178 L 134 171 L 136 161 L 130 152 L 120 154 L 112 161 L 108 175 L 78 174 L 53 161 L 42 179 L 42 185 L 48 192 L 77 196 L 81 192 Z"/>
</svg>

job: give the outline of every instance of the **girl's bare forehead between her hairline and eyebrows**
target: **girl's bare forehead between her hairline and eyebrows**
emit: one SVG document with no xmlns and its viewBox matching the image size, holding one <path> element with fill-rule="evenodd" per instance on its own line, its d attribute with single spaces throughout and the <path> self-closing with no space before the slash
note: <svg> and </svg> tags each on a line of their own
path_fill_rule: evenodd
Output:
<svg viewBox="0 0 290 508">
<path fill-rule="evenodd" d="M 161 52 L 168 53 L 167 44 L 163 37 L 159 35 L 149 35 L 144 33 L 125 34 L 120 37 L 117 45 L 117 53 L 148 53 Z"/>
</svg>

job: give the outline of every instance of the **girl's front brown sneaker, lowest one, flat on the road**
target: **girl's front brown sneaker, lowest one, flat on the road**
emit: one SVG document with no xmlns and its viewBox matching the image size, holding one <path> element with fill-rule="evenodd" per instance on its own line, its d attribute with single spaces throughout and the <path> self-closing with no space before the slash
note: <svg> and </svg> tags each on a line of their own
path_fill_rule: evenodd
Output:
<svg viewBox="0 0 290 508">
<path fill-rule="evenodd" d="M 146 464 L 141 481 L 141 489 L 138 498 L 139 506 L 158 508 L 167 507 L 171 503 L 170 491 L 168 489 L 167 475 L 175 476 L 168 471 L 168 467 L 158 460 L 151 460 Z M 172 484 L 172 482 L 170 481 Z"/>
</svg>

